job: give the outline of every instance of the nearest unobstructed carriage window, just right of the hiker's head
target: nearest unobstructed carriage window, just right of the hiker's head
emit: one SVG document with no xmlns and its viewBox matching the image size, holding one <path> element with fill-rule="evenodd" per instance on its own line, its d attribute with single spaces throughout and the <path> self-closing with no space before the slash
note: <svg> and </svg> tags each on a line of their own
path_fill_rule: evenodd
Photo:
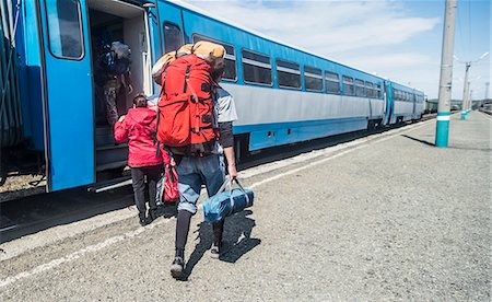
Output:
<svg viewBox="0 0 492 302">
<path fill-rule="evenodd" d="M 246 83 L 271 85 L 271 61 L 267 55 L 242 49 L 243 77 Z"/>
</svg>

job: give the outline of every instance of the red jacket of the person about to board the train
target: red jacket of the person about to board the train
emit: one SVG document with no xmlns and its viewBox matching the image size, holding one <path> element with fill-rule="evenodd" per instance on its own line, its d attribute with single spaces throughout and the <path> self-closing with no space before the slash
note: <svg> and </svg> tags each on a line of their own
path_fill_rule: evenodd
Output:
<svg viewBox="0 0 492 302">
<path fill-rule="evenodd" d="M 137 107 L 130 108 L 122 121 L 115 124 L 115 140 L 124 142 L 128 139 L 128 165 L 131 167 L 157 165 L 169 163 L 169 154 L 162 149 L 157 154 L 154 144 L 157 127 L 157 113 L 155 111 Z"/>
</svg>

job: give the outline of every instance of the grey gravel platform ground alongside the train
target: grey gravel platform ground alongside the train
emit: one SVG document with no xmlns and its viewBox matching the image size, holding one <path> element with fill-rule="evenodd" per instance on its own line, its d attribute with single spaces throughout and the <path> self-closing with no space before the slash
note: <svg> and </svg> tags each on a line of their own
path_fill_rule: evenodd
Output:
<svg viewBox="0 0 492 302">
<path fill-rule="evenodd" d="M 174 220 L 3 287 L 1 301 L 491 300 L 491 119 L 454 116 L 450 148 L 431 123 L 255 188 L 209 257 L 199 213 L 188 278 L 168 274 Z M 265 173 L 246 185 L 282 172 Z M 139 230 L 137 219 L 2 263 L 0 280 Z"/>
</svg>

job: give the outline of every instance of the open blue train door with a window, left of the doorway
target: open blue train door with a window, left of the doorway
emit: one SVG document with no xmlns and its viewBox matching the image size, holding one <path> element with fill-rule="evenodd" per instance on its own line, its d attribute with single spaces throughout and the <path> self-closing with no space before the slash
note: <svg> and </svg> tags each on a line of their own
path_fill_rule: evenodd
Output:
<svg viewBox="0 0 492 302">
<path fill-rule="evenodd" d="M 85 0 L 40 0 L 48 191 L 94 183 L 94 109 Z"/>
</svg>

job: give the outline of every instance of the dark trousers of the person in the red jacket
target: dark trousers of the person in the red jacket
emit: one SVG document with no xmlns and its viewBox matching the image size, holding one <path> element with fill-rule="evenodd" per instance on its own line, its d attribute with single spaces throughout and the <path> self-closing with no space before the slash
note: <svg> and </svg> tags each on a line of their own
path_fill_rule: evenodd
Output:
<svg viewBox="0 0 492 302">
<path fill-rule="evenodd" d="M 131 179 L 133 182 L 134 204 L 140 213 L 147 212 L 145 207 L 145 176 L 149 185 L 149 207 L 151 210 L 157 208 L 155 194 L 157 182 L 161 178 L 162 165 L 139 166 L 131 169 Z"/>
</svg>

